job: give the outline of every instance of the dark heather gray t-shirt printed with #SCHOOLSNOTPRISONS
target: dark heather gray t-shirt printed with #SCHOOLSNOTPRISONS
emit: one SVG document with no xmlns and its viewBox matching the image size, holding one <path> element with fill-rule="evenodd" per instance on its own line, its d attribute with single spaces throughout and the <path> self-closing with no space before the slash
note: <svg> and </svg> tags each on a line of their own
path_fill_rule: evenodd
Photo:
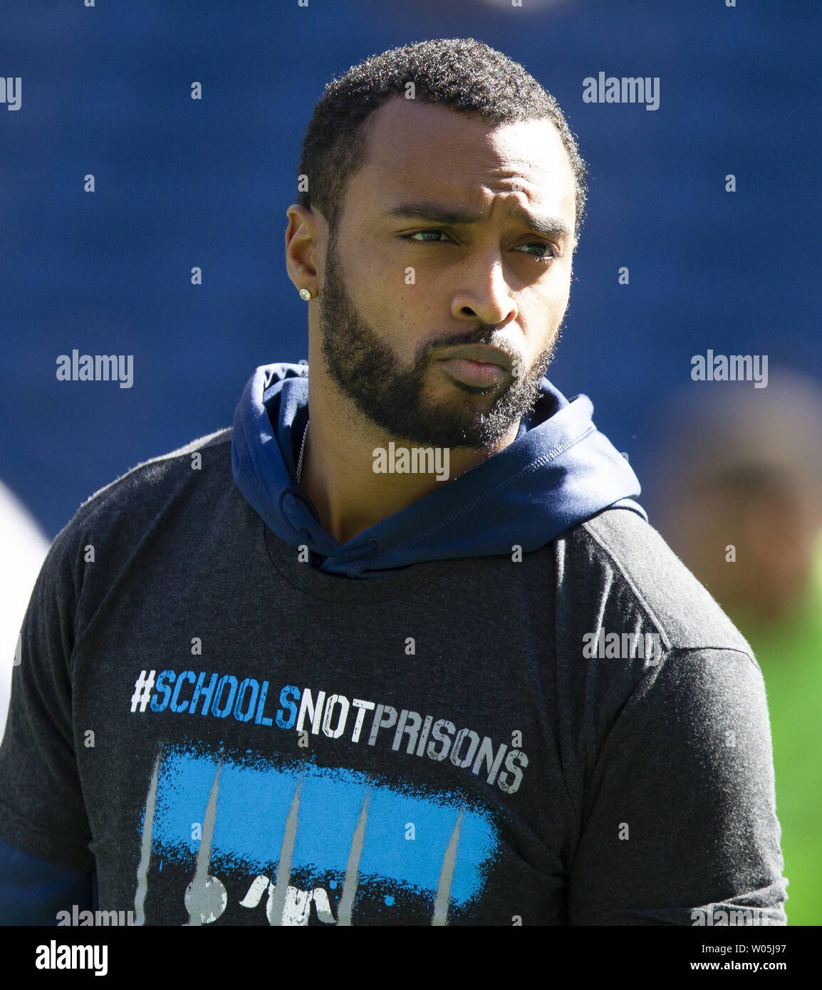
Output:
<svg viewBox="0 0 822 990">
<path fill-rule="evenodd" d="M 149 925 L 786 924 L 762 674 L 651 526 L 330 576 L 230 440 L 55 539 L 0 838 Z"/>
</svg>

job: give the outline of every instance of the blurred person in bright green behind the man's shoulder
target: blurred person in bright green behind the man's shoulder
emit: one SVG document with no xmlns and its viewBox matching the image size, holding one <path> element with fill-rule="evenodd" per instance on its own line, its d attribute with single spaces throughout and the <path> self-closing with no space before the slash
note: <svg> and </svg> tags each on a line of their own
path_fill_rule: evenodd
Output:
<svg viewBox="0 0 822 990">
<path fill-rule="evenodd" d="M 818 925 L 822 387 L 789 371 L 771 372 L 767 388 L 723 386 L 692 387 L 671 405 L 655 458 L 660 512 L 652 522 L 762 667 L 790 877 L 785 913 L 789 925 Z"/>
</svg>

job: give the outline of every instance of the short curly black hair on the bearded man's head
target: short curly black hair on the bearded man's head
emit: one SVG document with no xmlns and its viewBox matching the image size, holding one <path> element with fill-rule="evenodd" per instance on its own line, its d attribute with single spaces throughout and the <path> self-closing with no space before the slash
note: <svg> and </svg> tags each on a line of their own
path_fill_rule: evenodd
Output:
<svg viewBox="0 0 822 990">
<path fill-rule="evenodd" d="M 370 113 L 414 83 L 415 99 L 473 113 L 486 124 L 549 118 L 562 139 L 576 181 L 575 234 L 584 218 L 585 162 L 559 104 L 519 62 L 473 38 L 440 38 L 371 55 L 326 86 L 306 128 L 298 176 L 308 189 L 300 206 L 316 206 L 337 229 L 352 176 L 365 163 L 361 127 Z"/>
</svg>

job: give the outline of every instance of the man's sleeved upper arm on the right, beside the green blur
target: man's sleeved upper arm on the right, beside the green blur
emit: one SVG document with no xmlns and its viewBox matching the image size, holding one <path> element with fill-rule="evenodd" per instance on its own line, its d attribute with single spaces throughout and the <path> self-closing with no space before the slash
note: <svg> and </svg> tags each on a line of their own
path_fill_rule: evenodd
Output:
<svg viewBox="0 0 822 990">
<path fill-rule="evenodd" d="M 785 925 L 779 839 L 759 667 L 736 649 L 672 650 L 601 743 L 570 923 L 693 925 L 724 905 Z"/>
</svg>

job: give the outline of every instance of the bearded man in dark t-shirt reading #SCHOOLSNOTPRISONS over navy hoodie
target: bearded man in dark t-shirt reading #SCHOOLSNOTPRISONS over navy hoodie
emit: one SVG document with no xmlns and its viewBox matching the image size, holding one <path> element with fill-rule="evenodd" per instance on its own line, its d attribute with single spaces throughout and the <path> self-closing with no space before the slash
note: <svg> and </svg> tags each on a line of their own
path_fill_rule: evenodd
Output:
<svg viewBox="0 0 822 990">
<path fill-rule="evenodd" d="M 584 207 L 559 107 L 473 40 L 388 51 L 327 87 L 299 173 L 310 372 L 257 368 L 233 431 L 51 547 L 0 749 L 7 898 L 783 925 L 757 663 L 544 377 Z"/>
</svg>

